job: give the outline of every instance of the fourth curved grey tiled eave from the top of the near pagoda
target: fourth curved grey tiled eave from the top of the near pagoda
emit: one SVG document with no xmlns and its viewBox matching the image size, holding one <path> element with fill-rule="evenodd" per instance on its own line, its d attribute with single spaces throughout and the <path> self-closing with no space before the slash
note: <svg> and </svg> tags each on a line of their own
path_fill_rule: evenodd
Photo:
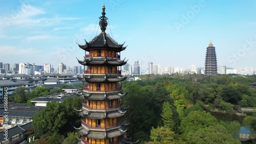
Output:
<svg viewBox="0 0 256 144">
<path fill-rule="evenodd" d="M 91 100 L 91 101 L 103 101 L 103 100 L 116 100 L 122 99 L 129 91 L 126 92 L 115 92 L 115 93 L 90 93 L 90 92 L 81 92 L 76 93 L 79 97 Z"/>
</svg>

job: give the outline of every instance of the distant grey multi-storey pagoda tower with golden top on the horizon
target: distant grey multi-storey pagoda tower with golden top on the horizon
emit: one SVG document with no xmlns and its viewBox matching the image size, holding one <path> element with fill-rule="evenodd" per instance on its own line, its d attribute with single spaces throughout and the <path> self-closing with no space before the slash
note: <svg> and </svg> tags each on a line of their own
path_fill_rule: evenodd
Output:
<svg viewBox="0 0 256 144">
<path fill-rule="evenodd" d="M 217 58 L 215 47 L 210 41 L 209 46 L 206 48 L 205 56 L 205 70 L 204 75 L 216 75 L 217 74 Z"/>
</svg>

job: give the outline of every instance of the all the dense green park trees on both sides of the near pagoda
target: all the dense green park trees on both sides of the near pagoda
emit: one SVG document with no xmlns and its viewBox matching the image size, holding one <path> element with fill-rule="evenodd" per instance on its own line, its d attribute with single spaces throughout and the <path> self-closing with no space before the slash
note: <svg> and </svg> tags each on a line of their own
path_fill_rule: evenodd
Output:
<svg viewBox="0 0 256 144">
<path fill-rule="evenodd" d="M 255 77 L 228 75 L 155 76 L 145 75 L 139 81 L 122 82 L 127 107 L 123 116 L 129 121 L 127 136 L 139 143 L 240 143 L 241 124 L 238 121 L 218 121 L 210 110 L 234 112 L 240 107 L 256 106 Z M 25 92 L 25 97 L 23 96 Z M 55 91 L 57 92 L 57 91 Z M 16 94 L 16 95 L 15 95 Z M 30 100 L 51 94 L 44 87 L 26 93 L 14 92 L 14 101 L 30 104 Z M 35 143 L 76 143 L 81 117 L 80 98 L 51 102 L 33 116 Z M 256 116 L 246 116 L 243 124 L 252 134 L 256 130 Z"/>
</svg>

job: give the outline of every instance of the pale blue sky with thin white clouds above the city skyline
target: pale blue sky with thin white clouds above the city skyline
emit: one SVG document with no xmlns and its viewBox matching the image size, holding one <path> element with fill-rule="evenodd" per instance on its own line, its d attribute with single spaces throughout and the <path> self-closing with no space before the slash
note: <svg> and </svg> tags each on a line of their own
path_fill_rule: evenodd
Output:
<svg viewBox="0 0 256 144">
<path fill-rule="evenodd" d="M 121 57 L 162 66 L 203 66 L 209 41 L 218 65 L 256 67 L 256 1 L 1 1 L 0 62 L 58 63 L 73 67 L 84 44 L 100 33 L 105 4 L 106 32 L 129 45 Z M 112 34 L 113 35 L 112 35 Z"/>
</svg>

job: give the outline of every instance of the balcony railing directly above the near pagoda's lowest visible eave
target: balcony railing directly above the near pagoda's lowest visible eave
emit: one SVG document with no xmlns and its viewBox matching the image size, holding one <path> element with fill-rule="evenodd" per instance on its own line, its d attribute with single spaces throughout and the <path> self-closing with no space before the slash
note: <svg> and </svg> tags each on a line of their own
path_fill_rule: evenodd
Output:
<svg viewBox="0 0 256 144">
<path fill-rule="evenodd" d="M 108 125 L 92 125 L 92 124 L 87 124 L 86 119 L 82 119 L 82 125 L 86 126 L 89 129 L 109 129 L 109 128 L 115 128 L 115 127 L 120 127 L 123 123 L 123 119 L 121 119 L 120 122 L 116 124 L 108 124 Z"/>
</svg>

